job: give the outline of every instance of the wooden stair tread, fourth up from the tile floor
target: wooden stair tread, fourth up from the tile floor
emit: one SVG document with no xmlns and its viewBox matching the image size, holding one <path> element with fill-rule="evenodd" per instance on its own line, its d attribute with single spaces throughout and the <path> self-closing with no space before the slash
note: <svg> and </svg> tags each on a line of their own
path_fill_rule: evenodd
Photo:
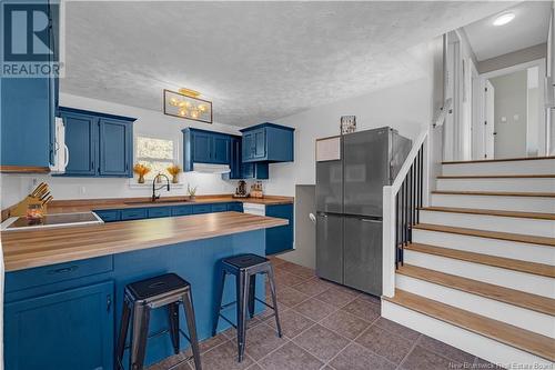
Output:
<svg viewBox="0 0 555 370">
<path fill-rule="evenodd" d="M 462 236 L 500 239 L 500 240 L 516 241 L 522 243 L 555 247 L 555 238 L 528 236 L 524 233 L 478 230 L 478 229 L 458 228 L 458 227 L 432 224 L 432 223 L 416 223 L 413 226 L 413 229 L 448 232 Z"/>
</svg>

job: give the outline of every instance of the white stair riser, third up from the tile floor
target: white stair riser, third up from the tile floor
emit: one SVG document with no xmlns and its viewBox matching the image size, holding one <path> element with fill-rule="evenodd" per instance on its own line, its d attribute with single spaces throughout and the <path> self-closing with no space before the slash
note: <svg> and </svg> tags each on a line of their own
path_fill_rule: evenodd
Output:
<svg viewBox="0 0 555 370">
<path fill-rule="evenodd" d="M 555 298 L 555 279 L 543 276 L 421 253 L 413 250 L 404 251 L 404 262 L 533 294 Z"/>
</svg>

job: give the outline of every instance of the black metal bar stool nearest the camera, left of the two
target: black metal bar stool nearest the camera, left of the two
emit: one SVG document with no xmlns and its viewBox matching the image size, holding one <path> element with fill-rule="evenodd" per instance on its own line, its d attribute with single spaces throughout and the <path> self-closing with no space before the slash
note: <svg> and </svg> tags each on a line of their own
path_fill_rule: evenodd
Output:
<svg viewBox="0 0 555 370">
<path fill-rule="evenodd" d="M 175 273 L 165 273 L 128 284 L 124 296 L 120 336 L 115 349 L 117 369 L 123 369 L 123 351 L 125 349 L 125 338 L 128 337 L 131 317 L 133 318 L 133 322 L 131 328 L 129 369 L 143 369 L 144 356 L 147 353 L 147 339 L 149 336 L 150 311 L 163 306 L 168 307 L 170 338 L 174 353 L 179 353 L 181 333 L 191 343 L 195 369 L 202 369 L 191 298 L 191 284 L 188 281 Z M 190 337 L 179 328 L 180 303 L 183 303 Z"/>
</svg>

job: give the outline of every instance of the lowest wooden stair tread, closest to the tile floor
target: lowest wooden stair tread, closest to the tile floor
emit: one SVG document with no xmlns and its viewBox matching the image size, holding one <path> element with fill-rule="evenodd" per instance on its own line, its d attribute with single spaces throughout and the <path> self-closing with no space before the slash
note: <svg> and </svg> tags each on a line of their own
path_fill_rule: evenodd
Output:
<svg viewBox="0 0 555 370">
<path fill-rule="evenodd" d="M 514 327 L 484 316 L 462 310 L 432 299 L 395 289 L 384 300 L 496 340 L 535 356 L 555 361 L 555 339 Z"/>
</svg>

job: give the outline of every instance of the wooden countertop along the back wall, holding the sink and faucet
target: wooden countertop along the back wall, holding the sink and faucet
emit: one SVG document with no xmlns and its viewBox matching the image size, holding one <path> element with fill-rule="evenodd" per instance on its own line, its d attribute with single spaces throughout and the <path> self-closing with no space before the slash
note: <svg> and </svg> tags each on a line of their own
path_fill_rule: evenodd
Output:
<svg viewBox="0 0 555 370">
<path fill-rule="evenodd" d="M 291 204 L 293 197 L 265 196 L 258 198 L 233 198 L 231 194 L 196 196 L 194 201 L 186 197 L 162 197 L 157 202 L 150 202 L 150 198 L 105 198 L 105 199 L 75 199 L 75 200 L 53 200 L 48 204 L 48 213 L 72 213 L 88 212 L 100 209 L 123 209 L 123 208 L 144 208 L 144 207 L 164 207 L 182 204 L 203 204 L 203 203 L 223 203 L 223 202 L 243 202 L 258 203 L 266 206 Z"/>
</svg>

